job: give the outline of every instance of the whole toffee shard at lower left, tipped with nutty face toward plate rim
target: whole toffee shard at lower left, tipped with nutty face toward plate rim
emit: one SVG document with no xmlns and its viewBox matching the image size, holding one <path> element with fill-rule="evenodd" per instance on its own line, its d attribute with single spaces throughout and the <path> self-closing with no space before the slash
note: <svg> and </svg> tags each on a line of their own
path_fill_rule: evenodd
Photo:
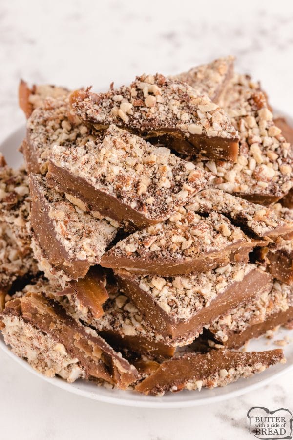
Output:
<svg viewBox="0 0 293 440">
<path fill-rule="evenodd" d="M 137 370 L 94 330 L 82 326 L 55 300 L 27 293 L 6 304 L 0 315 L 6 344 L 38 372 L 108 382 L 125 389 L 138 378 Z"/>
</svg>

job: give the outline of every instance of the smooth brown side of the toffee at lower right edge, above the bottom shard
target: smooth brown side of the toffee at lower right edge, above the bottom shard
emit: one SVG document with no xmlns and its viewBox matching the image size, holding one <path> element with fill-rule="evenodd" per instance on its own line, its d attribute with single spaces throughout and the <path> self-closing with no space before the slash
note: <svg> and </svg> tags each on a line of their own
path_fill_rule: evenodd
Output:
<svg viewBox="0 0 293 440">
<path fill-rule="evenodd" d="M 231 333 L 226 342 L 221 342 L 227 348 L 236 349 L 242 347 L 250 339 L 258 338 L 265 334 L 268 330 L 272 330 L 277 326 L 283 326 L 293 320 L 293 306 L 286 311 L 280 311 L 272 314 L 264 322 L 254 324 L 244 330 L 242 333 Z"/>
</svg>

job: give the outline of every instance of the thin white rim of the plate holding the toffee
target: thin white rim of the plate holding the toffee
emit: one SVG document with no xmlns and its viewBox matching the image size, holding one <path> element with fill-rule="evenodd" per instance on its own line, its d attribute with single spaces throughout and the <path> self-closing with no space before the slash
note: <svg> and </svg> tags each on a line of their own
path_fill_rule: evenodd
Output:
<svg viewBox="0 0 293 440">
<path fill-rule="evenodd" d="M 279 110 L 275 110 L 275 117 L 285 117 L 291 123 L 293 123 L 293 117 L 282 112 Z M 0 143 L 0 151 L 2 151 L 3 148 L 5 148 L 5 144 L 9 144 L 14 137 L 20 136 L 25 132 L 25 126 L 22 125 L 13 132 L 11 132 L 8 136 L 6 136 L 3 141 Z M 16 153 L 18 151 L 16 150 Z M 292 342 L 293 344 L 293 342 Z M 73 393 L 77 396 L 82 396 L 85 398 L 89 398 L 91 400 L 105 402 L 109 404 L 119 405 L 119 406 L 127 406 L 127 407 L 140 407 L 140 408 L 153 408 L 153 409 L 168 409 L 168 408 L 188 408 L 188 407 L 195 407 L 195 406 L 204 406 L 208 405 L 210 403 L 218 403 L 224 400 L 229 400 L 233 397 L 242 396 L 244 394 L 247 394 L 251 391 L 254 391 L 256 389 L 259 389 L 276 378 L 279 378 L 283 374 L 288 373 L 289 371 L 293 370 L 293 361 L 291 363 L 287 363 L 286 366 L 283 366 L 283 368 L 277 372 L 272 372 L 272 374 L 269 375 L 269 377 L 266 378 L 259 378 L 255 383 L 245 385 L 239 389 L 232 390 L 230 392 L 226 392 L 223 394 L 219 394 L 217 396 L 207 396 L 202 399 L 186 399 L 182 401 L 164 401 L 163 397 L 153 397 L 153 396 L 147 396 L 150 397 L 151 400 L 141 400 L 138 398 L 139 395 L 134 396 L 133 398 L 123 398 L 120 396 L 105 396 L 103 394 L 99 393 L 93 393 L 91 391 L 83 390 L 77 387 L 72 386 L 72 384 L 66 382 L 65 380 L 59 378 L 59 377 L 47 377 L 42 373 L 37 372 L 33 367 L 31 367 L 27 361 L 24 359 L 18 357 L 16 354 L 14 354 L 9 346 L 7 346 L 3 340 L 2 335 L 0 335 L 0 349 L 5 352 L 10 358 L 12 358 L 15 362 L 17 362 L 19 365 L 21 365 L 24 369 L 29 371 L 30 373 L 36 375 L 37 377 L 40 377 L 40 379 L 44 380 L 45 382 L 56 386 L 57 388 L 60 388 L 68 393 Z M 247 380 L 247 379 L 245 379 Z M 229 386 L 229 385 L 228 385 Z M 97 391 L 99 390 L 99 387 L 97 386 Z M 145 396 L 146 397 L 146 396 Z"/>
</svg>

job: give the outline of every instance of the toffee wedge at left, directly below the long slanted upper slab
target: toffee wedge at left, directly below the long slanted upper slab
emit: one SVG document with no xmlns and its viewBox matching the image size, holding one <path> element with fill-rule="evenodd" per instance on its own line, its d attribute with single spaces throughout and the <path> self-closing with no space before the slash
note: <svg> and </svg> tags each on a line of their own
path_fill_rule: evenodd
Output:
<svg viewBox="0 0 293 440">
<path fill-rule="evenodd" d="M 31 227 L 49 263 L 69 279 L 84 277 L 98 264 L 116 229 L 72 205 L 46 186 L 44 177 L 30 175 Z"/>
</svg>

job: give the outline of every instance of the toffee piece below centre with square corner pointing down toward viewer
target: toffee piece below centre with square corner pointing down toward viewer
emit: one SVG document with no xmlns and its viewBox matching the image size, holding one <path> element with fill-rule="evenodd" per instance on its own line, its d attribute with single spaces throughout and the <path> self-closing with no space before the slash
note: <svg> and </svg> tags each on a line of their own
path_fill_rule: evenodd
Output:
<svg viewBox="0 0 293 440">
<path fill-rule="evenodd" d="M 203 326 L 257 293 L 272 277 L 254 264 L 228 264 L 205 273 L 158 277 L 116 272 L 118 283 L 161 335 L 197 337 Z"/>
</svg>

